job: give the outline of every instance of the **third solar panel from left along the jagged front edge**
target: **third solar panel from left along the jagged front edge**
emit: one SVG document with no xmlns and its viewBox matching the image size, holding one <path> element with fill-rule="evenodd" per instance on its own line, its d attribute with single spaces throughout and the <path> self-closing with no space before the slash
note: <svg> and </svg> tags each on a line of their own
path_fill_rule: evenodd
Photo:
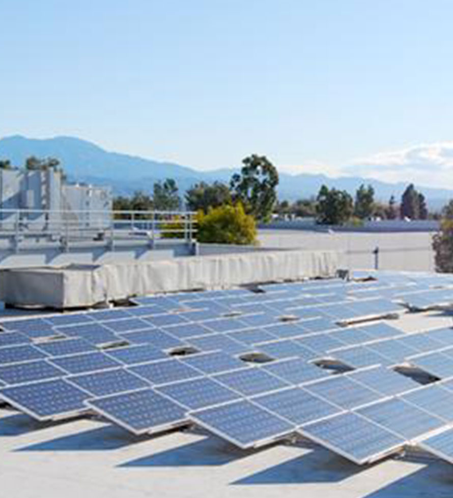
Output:
<svg viewBox="0 0 453 498">
<path fill-rule="evenodd" d="M 240 448 L 259 446 L 294 430 L 292 424 L 245 400 L 190 412 L 189 417 Z"/>
</svg>

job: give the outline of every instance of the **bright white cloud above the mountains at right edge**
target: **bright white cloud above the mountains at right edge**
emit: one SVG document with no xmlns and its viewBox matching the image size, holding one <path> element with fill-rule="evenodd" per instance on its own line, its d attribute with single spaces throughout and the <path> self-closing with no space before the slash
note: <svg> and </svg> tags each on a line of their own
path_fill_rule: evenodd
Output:
<svg viewBox="0 0 453 498">
<path fill-rule="evenodd" d="M 351 166 L 343 168 L 343 174 L 450 189 L 453 187 L 453 141 L 380 152 L 353 161 Z"/>
</svg>

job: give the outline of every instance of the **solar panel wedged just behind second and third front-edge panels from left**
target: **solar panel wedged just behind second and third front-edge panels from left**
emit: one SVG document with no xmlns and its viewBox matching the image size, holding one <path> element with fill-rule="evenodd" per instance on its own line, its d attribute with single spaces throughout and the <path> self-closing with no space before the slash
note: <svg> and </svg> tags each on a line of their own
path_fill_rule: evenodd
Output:
<svg viewBox="0 0 453 498">
<path fill-rule="evenodd" d="M 199 410 L 239 398 L 239 394 L 204 377 L 156 388 L 190 410 Z"/>
</svg>

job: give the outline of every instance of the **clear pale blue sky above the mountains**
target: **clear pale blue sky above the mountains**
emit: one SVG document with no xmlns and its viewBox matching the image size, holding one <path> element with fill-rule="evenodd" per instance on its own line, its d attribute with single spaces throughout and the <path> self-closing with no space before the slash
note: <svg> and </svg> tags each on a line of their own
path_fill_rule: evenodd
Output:
<svg viewBox="0 0 453 498">
<path fill-rule="evenodd" d="M 414 147 L 453 157 L 451 0 L 0 0 L 0 18 L 0 136 L 389 179 Z"/>
</svg>

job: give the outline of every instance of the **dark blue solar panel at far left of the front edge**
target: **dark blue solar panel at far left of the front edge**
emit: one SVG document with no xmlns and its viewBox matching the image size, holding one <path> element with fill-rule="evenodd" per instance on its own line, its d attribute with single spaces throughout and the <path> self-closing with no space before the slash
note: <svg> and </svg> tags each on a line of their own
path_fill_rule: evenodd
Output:
<svg viewBox="0 0 453 498">
<path fill-rule="evenodd" d="M 83 402 L 89 395 L 63 379 L 56 379 L 6 387 L 0 390 L 0 397 L 36 419 L 45 420 L 86 410 Z"/>
</svg>

